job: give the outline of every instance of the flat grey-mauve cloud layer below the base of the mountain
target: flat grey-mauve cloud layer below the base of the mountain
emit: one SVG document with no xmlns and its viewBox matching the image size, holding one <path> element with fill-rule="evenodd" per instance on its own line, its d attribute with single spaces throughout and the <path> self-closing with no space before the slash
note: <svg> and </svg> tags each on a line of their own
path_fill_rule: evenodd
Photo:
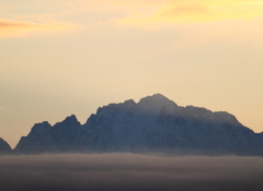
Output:
<svg viewBox="0 0 263 191">
<path fill-rule="evenodd" d="M 261 157 L 1 156 L 1 190 L 262 190 Z"/>
</svg>

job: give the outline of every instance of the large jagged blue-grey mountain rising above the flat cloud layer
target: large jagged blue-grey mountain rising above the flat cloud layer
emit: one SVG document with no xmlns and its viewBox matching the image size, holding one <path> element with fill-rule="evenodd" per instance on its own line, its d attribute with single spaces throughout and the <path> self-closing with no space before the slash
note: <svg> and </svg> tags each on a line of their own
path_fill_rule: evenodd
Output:
<svg viewBox="0 0 263 191">
<path fill-rule="evenodd" d="M 199 107 L 180 107 L 161 94 L 100 107 L 84 124 L 76 116 L 52 127 L 35 124 L 16 153 L 172 152 L 263 155 L 263 134 L 235 116 Z"/>
</svg>

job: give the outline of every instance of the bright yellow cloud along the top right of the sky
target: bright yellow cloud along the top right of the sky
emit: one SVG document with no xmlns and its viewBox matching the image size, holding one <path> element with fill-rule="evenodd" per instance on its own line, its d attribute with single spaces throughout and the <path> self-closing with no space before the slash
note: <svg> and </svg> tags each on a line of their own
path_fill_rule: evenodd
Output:
<svg viewBox="0 0 263 191">
<path fill-rule="evenodd" d="M 253 0 L 182 0 L 159 1 L 153 14 L 136 14 L 118 21 L 119 24 L 199 23 L 237 19 L 253 19 L 262 14 L 263 1 Z M 138 13 L 138 12 L 137 12 Z"/>
</svg>

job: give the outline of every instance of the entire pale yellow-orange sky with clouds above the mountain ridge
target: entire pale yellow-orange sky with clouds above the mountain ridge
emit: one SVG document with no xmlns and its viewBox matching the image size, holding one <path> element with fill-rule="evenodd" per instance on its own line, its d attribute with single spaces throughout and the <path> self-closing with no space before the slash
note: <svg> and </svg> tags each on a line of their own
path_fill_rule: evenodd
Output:
<svg viewBox="0 0 263 191">
<path fill-rule="evenodd" d="M 0 0 L 0 138 L 156 93 L 263 131 L 263 0 Z"/>
</svg>

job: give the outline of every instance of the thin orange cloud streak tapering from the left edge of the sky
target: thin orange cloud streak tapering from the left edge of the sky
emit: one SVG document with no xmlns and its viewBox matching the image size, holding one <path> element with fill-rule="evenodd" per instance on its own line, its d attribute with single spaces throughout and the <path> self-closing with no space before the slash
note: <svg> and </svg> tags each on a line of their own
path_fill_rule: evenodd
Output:
<svg viewBox="0 0 263 191">
<path fill-rule="evenodd" d="M 47 33 L 70 31 L 69 24 L 58 21 L 46 21 L 46 23 L 32 23 L 15 20 L 0 19 L 0 38 L 28 37 Z"/>
</svg>

